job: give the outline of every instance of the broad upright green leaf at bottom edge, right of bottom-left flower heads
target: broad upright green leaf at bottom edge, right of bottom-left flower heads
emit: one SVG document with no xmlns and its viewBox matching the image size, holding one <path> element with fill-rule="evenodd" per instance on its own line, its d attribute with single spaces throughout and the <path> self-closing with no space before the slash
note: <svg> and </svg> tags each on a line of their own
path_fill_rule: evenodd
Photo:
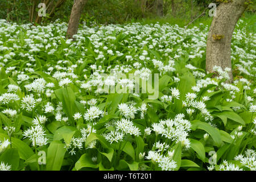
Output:
<svg viewBox="0 0 256 182">
<path fill-rule="evenodd" d="M 65 152 L 66 149 L 62 142 L 51 142 L 47 151 L 46 170 L 59 171 L 63 163 Z"/>
</svg>

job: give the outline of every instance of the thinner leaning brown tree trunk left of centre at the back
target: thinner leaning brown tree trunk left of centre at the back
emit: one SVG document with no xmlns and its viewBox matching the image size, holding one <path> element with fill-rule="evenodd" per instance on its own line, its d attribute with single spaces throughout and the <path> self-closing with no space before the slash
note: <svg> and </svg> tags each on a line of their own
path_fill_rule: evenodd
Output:
<svg viewBox="0 0 256 182">
<path fill-rule="evenodd" d="M 79 21 L 81 18 L 82 10 L 87 0 L 76 0 L 71 11 L 70 19 L 68 22 L 67 39 L 73 39 L 73 35 L 77 34 Z"/>
</svg>

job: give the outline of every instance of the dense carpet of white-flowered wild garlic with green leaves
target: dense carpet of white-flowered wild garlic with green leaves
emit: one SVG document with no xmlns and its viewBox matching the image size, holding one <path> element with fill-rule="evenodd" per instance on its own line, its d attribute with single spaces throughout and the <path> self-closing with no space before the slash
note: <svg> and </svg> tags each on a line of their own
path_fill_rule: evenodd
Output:
<svg viewBox="0 0 256 182">
<path fill-rule="evenodd" d="M 204 71 L 204 24 L 84 25 L 71 42 L 66 23 L 0 20 L 0 169 L 255 170 L 256 37 L 245 24 L 229 84 L 229 69 Z M 158 97 L 119 92 L 152 75 Z"/>
</svg>

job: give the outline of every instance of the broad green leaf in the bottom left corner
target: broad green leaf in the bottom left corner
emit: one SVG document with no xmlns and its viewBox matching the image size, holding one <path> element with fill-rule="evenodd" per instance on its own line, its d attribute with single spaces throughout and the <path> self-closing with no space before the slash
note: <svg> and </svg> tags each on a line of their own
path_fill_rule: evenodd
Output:
<svg viewBox="0 0 256 182">
<path fill-rule="evenodd" d="M 0 164 L 4 162 L 11 166 L 12 171 L 16 171 L 19 167 L 19 152 L 16 148 L 9 148 L 0 157 Z"/>
</svg>

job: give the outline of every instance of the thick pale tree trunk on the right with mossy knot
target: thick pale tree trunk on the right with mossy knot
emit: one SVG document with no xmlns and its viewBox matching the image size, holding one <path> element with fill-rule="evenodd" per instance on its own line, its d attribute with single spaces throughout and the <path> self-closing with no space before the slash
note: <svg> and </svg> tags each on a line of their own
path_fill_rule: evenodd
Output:
<svg viewBox="0 0 256 182">
<path fill-rule="evenodd" d="M 234 28 L 246 9 L 246 0 L 233 0 L 221 3 L 217 7 L 217 16 L 213 17 L 207 38 L 206 69 L 212 72 L 214 65 L 225 69 L 232 68 L 231 40 Z M 233 81 L 232 71 L 229 74 Z"/>
</svg>

